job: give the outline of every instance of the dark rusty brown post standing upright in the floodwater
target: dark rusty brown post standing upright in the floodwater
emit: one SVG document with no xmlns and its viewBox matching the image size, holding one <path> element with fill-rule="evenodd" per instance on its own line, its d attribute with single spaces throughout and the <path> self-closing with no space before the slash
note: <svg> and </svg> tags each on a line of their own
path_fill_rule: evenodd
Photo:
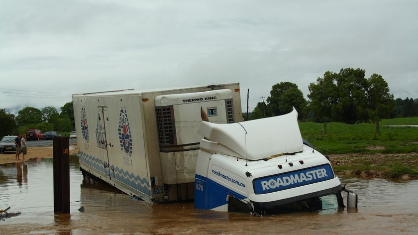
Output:
<svg viewBox="0 0 418 235">
<path fill-rule="evenodd" d="M 70 213 L 70 139 L 54 138 L 54 212 Z"/>
</svg>

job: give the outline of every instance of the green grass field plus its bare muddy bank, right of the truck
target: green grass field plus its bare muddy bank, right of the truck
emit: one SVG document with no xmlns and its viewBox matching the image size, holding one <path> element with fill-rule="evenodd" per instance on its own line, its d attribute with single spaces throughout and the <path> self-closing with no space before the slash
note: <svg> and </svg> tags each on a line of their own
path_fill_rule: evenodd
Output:
<svg viewBox="0 0 418 235">
<path fill-rule="evenodd" d="M 381 171 L 389 178 L 398 178 L 404 174 L 418 175 L 418 127 L 387 125 L 418 125 L 418 117 L 381 120 L 380 133 L 376 133 L 376 123 L 351 125 L 329 122 L 326 134 L 323 123 L 299 123 L 302 137 L 322 154 L 351 155 L 348 157 L 349 164 L 334 166 L 336 172 Z M 391 155 L 374 161 L 370 155 L 375 153 L 398 153 L 400 156 Z"/>
</svg>

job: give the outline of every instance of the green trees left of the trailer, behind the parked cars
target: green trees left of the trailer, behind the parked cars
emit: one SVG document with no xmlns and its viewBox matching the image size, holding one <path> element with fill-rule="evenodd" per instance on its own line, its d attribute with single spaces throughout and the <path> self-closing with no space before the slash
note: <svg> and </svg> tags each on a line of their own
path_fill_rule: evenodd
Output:
<svg viewBox="0 0 418 235">
<path fill-rule="evenodd" d="M 36 128 L 45 131 L 72 131 L 75 129 L 73 102 L 60 108 L 45 107 L 41 110 L 26 107 L 17 116 L 0 109 L 0 137 L 25 133 L 26 129 Z"/>
</svg>

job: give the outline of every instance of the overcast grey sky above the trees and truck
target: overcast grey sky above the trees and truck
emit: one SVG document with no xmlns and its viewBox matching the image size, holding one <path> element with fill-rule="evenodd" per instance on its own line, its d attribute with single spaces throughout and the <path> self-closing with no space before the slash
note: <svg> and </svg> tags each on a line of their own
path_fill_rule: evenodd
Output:
<svg viewBox="0 0 418 235">
<path fill-rule="evenodd" d="M 418 98 L 418 0 L 0 0 L 0 108 L 71 94 L 239 82 L 243 112 L 279 82 L 377 73 Z"/>
</svg>

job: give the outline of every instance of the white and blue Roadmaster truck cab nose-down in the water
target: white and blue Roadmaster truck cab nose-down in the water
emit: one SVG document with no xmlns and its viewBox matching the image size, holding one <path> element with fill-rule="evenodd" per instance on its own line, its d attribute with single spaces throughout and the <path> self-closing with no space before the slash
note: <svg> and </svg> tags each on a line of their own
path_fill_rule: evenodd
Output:
<svg viewBox="0 0 418 235">
<path fill-rule="evenodd" d="M 203 120 L 208 120 L 205 113 Z M 195 208 L 270 215 L 356 208 L 327 157 L 302 138 L 298 113 L 219 124 L 203 121 Z M 346 195 L 344 205 L 343 195 Z"/>
</svg>

